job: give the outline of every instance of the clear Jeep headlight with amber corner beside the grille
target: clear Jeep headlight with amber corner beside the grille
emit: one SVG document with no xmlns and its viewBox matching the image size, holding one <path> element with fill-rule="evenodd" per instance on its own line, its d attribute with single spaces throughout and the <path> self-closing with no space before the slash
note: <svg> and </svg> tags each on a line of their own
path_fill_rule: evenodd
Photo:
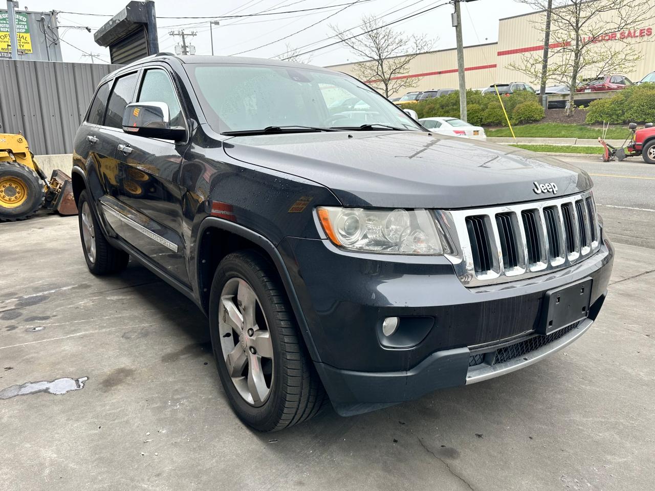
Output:
<svg viewBox="0 0 655 491">
<path fill-rule="evenodd" d="M 363 209 L 319 206 L 329 240 L 349 251 L 441 255 L 453 247 L 435 217 L 425 209 Z"/>
</svg>

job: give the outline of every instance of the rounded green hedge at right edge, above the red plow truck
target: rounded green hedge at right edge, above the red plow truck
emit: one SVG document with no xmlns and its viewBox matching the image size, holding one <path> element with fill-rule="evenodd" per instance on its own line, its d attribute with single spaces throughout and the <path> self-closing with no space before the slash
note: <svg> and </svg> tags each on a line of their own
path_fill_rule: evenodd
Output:
<svg viewBox="0 0 655 491">
<path fill-rule="evenodd" d="M 618 90 L 616 96 L 589 103 L 588 124 L 609 122 L 653 122 L 655 120 L 655 84 L 643 84 Z"/>
</svg>

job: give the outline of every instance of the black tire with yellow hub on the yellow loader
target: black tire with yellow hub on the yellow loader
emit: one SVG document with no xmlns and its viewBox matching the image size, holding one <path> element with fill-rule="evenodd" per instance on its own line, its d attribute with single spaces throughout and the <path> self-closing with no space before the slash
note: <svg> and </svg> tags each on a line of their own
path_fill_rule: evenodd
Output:
<svg viewBox="0 0 655 491">
<path fill-rule="evenodd" d="M 16 162 L 0 162 L 0 222 L 24 220 L 43 205 L 45 192 L 36 172 Z"/>
</svg>

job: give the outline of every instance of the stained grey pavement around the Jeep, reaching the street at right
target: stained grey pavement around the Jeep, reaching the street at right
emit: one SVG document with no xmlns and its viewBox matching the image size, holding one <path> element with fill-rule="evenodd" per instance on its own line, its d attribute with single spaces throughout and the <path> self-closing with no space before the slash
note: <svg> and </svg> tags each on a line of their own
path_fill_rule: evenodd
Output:
<svg viewBox="0 0 655 491">
<path fill-rule="evenodd" d="M 92 276 L 75 217 L 0 225 L 0 490 L 652 489 L 655 166 L 582 166 L 616 261 L 580 340 L 495 380 L 273 434 L 229 409 L 191 302 L 137 264 Z"/>
</svg>

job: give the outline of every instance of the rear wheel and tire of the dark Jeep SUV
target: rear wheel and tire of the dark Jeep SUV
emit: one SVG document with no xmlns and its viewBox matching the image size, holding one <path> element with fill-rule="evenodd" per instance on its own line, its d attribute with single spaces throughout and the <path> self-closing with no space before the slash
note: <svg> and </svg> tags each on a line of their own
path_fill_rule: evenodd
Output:
<svg viewBox="0 0 655 491">
<path fill-rule="evenodd" d="M 82 191 L 77 202 L 78 221 L 82 250 L 88 270 L 98 276 L 115 274 L 127 267 L 130 255 L 107 242 L 98 224 L 98 218 L 89 203 L 86 190 Z"/>
</svg>

